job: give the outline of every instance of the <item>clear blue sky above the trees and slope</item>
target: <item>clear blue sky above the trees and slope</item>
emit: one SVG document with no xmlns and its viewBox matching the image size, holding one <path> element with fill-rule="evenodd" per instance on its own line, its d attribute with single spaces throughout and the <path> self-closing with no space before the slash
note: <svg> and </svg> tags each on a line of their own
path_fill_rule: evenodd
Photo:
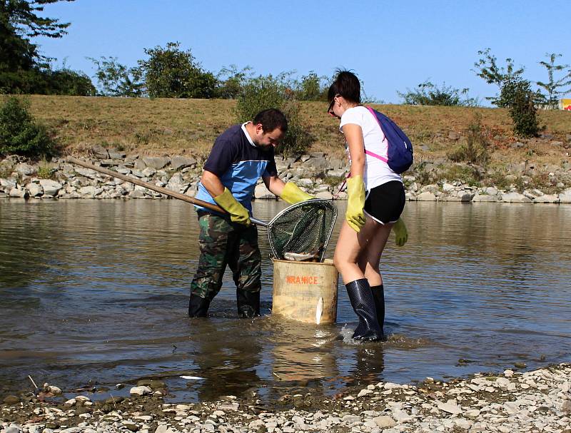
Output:
<svg viewBox="0 0 571 433">
<path fill-rule="evenodd" d="M 86 57 L 135 66 L 144 48 L 179 41 L 215 73 L 231 64 L 264 75 L 348 68 L 387 103 L 427 79 L 483 101 L 497 88 L 472 71 L 479 50 L 489 47 L 500 64 L 513 58 L 531 81 L 547 81 L 538 65 L 546 53 L 571 63 L 571 0 L 76 0 L 44 15 L 71 26 L 63 39 L 36 39 L 42 53 L 90 76 Z"/>
</svg>

